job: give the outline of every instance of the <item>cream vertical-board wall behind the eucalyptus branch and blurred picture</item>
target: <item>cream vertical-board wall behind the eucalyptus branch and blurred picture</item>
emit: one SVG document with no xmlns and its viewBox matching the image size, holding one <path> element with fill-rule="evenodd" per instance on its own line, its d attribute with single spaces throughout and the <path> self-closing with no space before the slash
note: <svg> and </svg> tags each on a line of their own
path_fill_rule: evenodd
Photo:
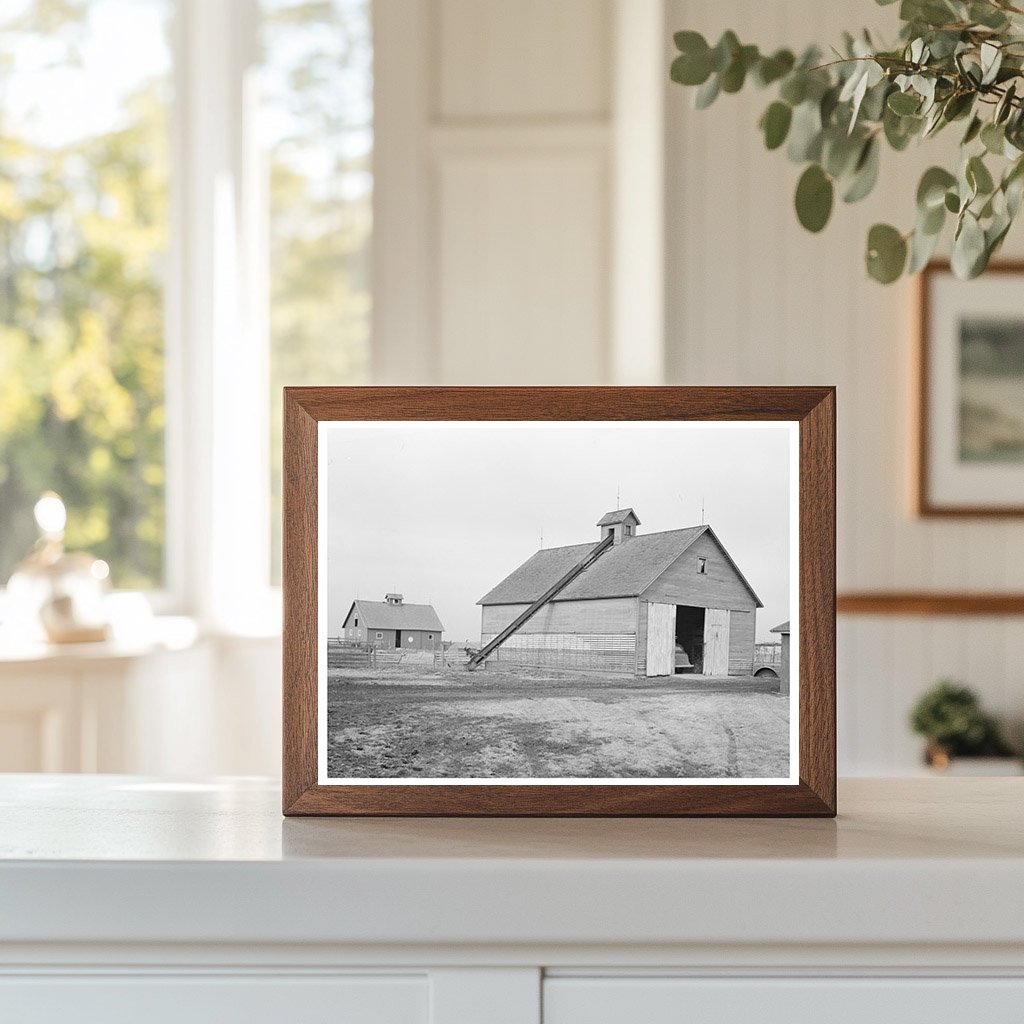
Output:
<svg viewBox="0 0 1024 1024">
<path fill-rule="evenodd" d="M 669 0 L 666 37 L 690 28 L 714 42 L 731 28 L 744 43 L 802 47 L 866 24 L 889 39 L 894 11 L 863 0 Z M 812 236 L 793 211 L 800 169 L 767 153 L 756 128 L 770 92 L 748 88 L 708 111 L 692 109 L 691 93 L 667 86 L 670 382 L 838 386 L 841 590 L 1020 590 L 1020 521 L 910 515 L 913 284 L 883 288 L 863 270 L 867 228 L 909 226 L 918 178 L 946 159 L 955 133 L 884 153 L 877 193 L 838 203 Z M 1018 229 L 1007 254 L 1022 252 Z M 841 620 L 841 770 L 913 771 L 907 712 L 941 676 L 965 679 L 1020 731 L 1022 653 L 1018 618 Z"/>
</svg>

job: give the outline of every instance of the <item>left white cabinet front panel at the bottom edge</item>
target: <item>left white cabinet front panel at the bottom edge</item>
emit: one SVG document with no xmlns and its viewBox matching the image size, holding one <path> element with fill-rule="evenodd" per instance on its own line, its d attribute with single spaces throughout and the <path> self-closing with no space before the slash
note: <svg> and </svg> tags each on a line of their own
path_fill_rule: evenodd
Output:
<svg viewBox="0 0 1024 1024">
<path fill-rule="evenodd" d="M 0 979 L 0 1020 L 17 1024 L 427 1024 L 428 1016 L 425 975 Z"/>
</svg>

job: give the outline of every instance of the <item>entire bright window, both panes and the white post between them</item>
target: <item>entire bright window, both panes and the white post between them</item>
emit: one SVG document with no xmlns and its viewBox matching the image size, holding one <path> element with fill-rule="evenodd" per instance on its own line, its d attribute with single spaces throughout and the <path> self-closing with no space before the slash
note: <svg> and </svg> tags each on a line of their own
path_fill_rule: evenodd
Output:
<svg viewBox="0 0 1024 1024">
<path fill-rule="evenodd" d="M 116 587 L 276 628 L 281 388 L 367 379 L 372 152 L 371 0 L 0 3 L 0 587 L 52 488 Z"/>
</svg>

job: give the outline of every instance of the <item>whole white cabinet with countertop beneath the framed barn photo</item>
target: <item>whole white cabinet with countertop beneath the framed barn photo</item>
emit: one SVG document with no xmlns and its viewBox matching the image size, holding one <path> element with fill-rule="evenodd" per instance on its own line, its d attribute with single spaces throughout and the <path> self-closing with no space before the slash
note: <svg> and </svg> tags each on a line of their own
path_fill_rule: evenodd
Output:
<svg viewBox="0 0 1024 1024">
<path fill-rule="evenodd" d="M 0 775 L 0 1022 L 1022 1024 L 1020 796 L 283 820 L 260 779 Z"/>
</svg>

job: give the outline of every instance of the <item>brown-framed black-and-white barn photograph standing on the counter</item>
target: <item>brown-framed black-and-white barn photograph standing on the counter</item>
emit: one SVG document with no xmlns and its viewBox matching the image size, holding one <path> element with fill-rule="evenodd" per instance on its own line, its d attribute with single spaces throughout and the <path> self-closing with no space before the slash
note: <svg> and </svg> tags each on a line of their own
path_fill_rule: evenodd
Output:
<svg viewBox="0 0 1024 1024">
<path fill-rule="evenodd" d="M 836 813 L 831 388 L 287 388 L 284 811 Z"/>
</svg>

